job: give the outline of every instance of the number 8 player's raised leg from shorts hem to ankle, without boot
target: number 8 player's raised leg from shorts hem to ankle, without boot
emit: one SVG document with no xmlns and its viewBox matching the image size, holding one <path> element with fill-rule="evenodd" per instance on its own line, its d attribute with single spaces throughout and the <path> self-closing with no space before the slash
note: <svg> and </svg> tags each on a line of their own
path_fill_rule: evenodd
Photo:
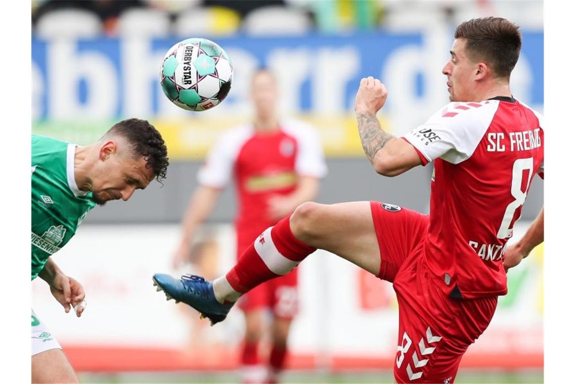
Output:
<svg viewBox="0 0 576 384">
<path fill-rule="evenodd" d="M 302 204 L 290 218 L 265 230 L 226 276 L 214 280 L 215 297 L 236 301 L 258 284 L 290 272 L 318 248 L 378 275 L 380 249 L 370 202 Z"/>
</svg>

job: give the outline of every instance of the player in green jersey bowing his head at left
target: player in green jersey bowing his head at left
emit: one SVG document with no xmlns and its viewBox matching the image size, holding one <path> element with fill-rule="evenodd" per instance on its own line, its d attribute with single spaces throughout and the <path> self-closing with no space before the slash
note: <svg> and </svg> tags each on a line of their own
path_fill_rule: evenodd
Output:
<svg viewBox="0 0 576 384">
<path fill-rule="evenodd" d="M 66 313 L 82 314 L 84 288 L 51 255 L 96 204 L 126 201 L 154 178 L 165 178 L 166 155 L 160 133 L 140 119 L 120 121 L 88 146 L 32 136 L 32 280 L 45 280 Z M 32 382 L 78 382 L 58 341 L 33 310 Z"/>
</svg>

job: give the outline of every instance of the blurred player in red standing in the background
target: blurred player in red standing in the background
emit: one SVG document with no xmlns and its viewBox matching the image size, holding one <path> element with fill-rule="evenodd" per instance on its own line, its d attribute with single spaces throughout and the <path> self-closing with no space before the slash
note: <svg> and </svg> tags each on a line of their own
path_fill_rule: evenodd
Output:
<svg viewBox="0 0 576 384">
<path fill-rule="evenodd" d="M 238 257 L 264 229 L 316 196 L 319 179 L 327 172 L 320 140 L 301 121 L 279 119 L 278 98 L 274 75 L 268 70 L 257 71 L 252 79 L 254 121 L 225 132 L 200 169 L 200 185 L 191 197 L 180 245 L 173 257 L 176 267 L 188 257 L 192 234 L 210 215 L 232 178 L 239 208 Z M 294 270 L 242 296 L 240 307 L 246 320 L 241 353 L 244 382 L 273 382 L 282 370 L 290 324 L 297 311 L 297 282 Z M 266 309 L 274 314 L 268 369 L 260 364 L 258 356 Z"/>
</svg>

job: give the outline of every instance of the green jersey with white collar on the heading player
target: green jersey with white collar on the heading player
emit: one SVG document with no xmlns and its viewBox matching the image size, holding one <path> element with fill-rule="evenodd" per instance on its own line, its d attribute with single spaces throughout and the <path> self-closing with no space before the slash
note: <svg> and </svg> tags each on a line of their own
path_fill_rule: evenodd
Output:
<svg viewBox="0 0 576 384">
<path fill-rule="evenodd" d="M 96 203 L 74 180 L 76 146 L 32 135 L 32 280 Z"/>
</svg>

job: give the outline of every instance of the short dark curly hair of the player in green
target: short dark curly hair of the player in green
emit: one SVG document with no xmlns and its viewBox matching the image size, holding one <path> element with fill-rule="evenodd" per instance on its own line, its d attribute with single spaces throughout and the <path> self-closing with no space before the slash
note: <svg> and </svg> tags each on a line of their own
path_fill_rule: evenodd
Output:
<svg viewBox="0 0 576 384">
<path fill-rule="evenodd" d="M 147 120 L 126 119 L 114 124 L 106 135 L 116 134 L 125 138 L 132 147 L 134 158 L 144 157 L 146 167 L 151 168 L 160 181 L 166 178 L 168 150 L 160 132 Z"/>
</svg>

